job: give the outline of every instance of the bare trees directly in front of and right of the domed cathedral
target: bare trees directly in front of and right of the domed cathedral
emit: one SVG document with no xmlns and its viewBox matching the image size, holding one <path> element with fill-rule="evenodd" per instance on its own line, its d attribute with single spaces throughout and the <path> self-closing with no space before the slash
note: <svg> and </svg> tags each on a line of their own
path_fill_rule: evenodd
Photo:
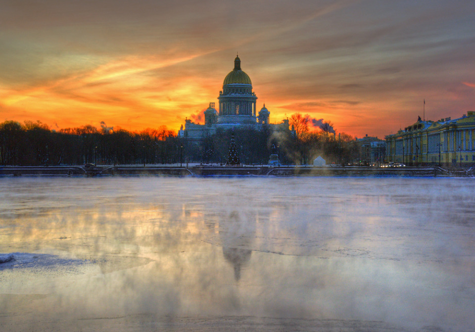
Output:
<svg viewBox="0 0 475 332">
<path fill-rule="evenodd" d="M 205 137 L 201 142 L 189 142 L 184 138 L 181 141 L 183 158 L 180 160 L 225 164 L 233 135 L 241 163 L 247 165 L 267 164 L 271 154 L 277 154 L 282 165 L 312 164 L 318 156 L 322 156 L 327 163 L 337 165 L 353 163 L 358 159 L 358 148 L 351 136 L 310 130 L 308 118 L 307 123 L 304 118 L 297 116 L 290 119 L 294 130 L 291 130 L 292 127 L 289 130 L 286 125 L 277 130 L 270 126 L 263 126 L 260 130 L 255 127 L 218 129 L 215 135 Z"/>
</svg>

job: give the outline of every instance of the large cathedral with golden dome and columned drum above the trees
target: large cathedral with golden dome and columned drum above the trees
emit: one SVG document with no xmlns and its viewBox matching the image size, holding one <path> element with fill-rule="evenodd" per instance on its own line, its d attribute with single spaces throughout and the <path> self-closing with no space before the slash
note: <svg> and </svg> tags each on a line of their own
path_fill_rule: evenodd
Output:
<svg viewBox="0 0 475 332">
<path fill-rule="evenodd" d="M 216 133 L 218 128 L 252 128 L 259 130 L 262 126 L 283 126 L 288 129 L 288 120 L 282 124 L 269 124 L 270 112 L 265 104 L 256 112 L 257 96 L 252 91 L 252 83 L 249 75 L 241 69 L 241 60 L 238 56 L 234 59 L 234 69 L 226 75 L 223 81 L 223 90 L 218 96 L 219 110 L 215 103 L 210 102 L 204 111 L 204 124 L 196 124 L 191 120 L 185 120 L 185 128 L 180 128 L 178 137 L 189 138 L 199 141 L 206 136 Z"/>
</svg>

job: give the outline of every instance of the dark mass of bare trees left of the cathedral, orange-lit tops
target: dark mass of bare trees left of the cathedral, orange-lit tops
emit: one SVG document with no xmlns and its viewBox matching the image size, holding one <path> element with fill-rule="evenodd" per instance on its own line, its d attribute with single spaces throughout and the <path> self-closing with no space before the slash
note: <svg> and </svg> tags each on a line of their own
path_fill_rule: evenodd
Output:
<svg viewBox="0 0 475 332">
<path fill-rule="evenodd" d="M 53 131 L 40 121 L 5 121 L 0 124 L 0 164 L 165 164 L 178 158 L 176 141 L 166 127 L 138 133 L 91 125 Z"/>
</svg>

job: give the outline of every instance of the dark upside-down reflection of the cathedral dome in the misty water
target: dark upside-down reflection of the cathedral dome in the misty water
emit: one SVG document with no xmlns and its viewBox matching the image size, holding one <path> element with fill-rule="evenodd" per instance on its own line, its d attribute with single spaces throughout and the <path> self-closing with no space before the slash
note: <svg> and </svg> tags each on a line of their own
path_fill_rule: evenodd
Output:
<svg viewBox="0 0 475 332">
<path fill-rule="evenodd" d="M 254 218 L 253 218 L 254 217 Z M 224 258 L 234 267 L 234 278 L 241 278 L 241 267 L 251 259 L 251 247 L 256 234 L 255 216 L 240 218 L 238 211 L 233 211 L 220 222 L 219 235 L 223 245 Z"/>
</svg>

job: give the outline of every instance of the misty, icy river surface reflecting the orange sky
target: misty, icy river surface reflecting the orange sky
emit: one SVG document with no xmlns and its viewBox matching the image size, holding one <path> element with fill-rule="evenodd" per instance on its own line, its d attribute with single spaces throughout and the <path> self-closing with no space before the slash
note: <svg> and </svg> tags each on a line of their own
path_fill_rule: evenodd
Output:
<svg viewBox="0 0 475 332">
<path fill-rule="evenodd" d="M 0 178 L 1 331 L 474 331 L 474 193 L 467 178 Z"/>
</svg>

